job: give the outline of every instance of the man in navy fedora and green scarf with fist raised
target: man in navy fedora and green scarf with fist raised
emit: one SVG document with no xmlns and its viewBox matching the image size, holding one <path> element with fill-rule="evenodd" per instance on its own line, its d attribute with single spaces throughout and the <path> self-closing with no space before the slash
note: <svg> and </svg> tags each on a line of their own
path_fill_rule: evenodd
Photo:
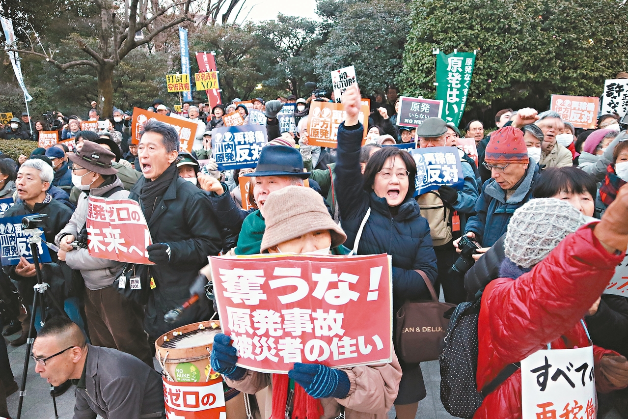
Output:
<svg viewBox="0 0 628 419">
<path fill-rule="evenodd" d="M 266 229 L 264 204 L 268 195 L 290 185 L 303 186 L 303 180 L 310 177 L 310 173 L 303 171 L 303 158 L 296 148 L 269 144 L 259 154 L 255 171 L 244 176 L 255 178 L 253 197 L 259 209 L 252 212 L 236 207 L 224 183 L 203 175 L 199 175 L 198 182 L 203 190 L 210 192 L 210 200 L 223 226 L 237 231 L 241 225 L 236 254 L 258 254 Z"/>
</svg>

